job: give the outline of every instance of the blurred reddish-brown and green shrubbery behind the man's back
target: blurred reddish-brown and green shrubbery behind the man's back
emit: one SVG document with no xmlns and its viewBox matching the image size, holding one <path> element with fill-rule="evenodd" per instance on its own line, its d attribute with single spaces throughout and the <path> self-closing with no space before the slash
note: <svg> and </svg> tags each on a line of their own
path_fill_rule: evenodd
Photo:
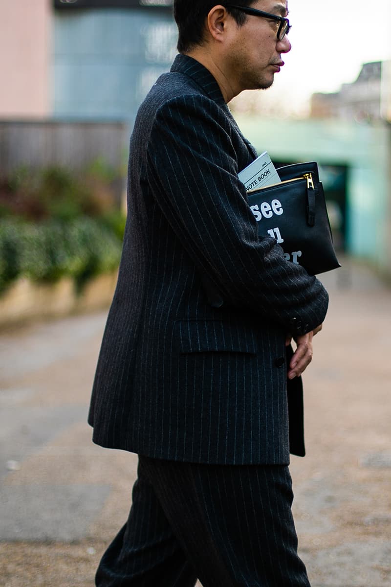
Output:
<svg viewBox="0 0 391 587">
<path fill-rule="evenodd" d="M 0 178 L 0 292 L 18 276 L 78 288 L 117 268 L 125 217 L 115 202 L 117 171 L 97 159 L 83 172 L 21 167 Z"/>
</svg>

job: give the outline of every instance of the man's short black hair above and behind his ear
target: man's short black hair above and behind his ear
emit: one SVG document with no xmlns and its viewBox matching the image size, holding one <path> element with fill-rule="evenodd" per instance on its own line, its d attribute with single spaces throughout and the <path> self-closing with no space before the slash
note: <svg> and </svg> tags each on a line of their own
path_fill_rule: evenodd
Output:
<svg viewBox="0 0 391 587">
<path fill-rule="evenodd" d="M 250 6 L 254 0 L 233 0 L 237 6 Z M 205 19 L 213 6 L 219 3 L 216 0 L 174 0 L 174 18 L 178 26 L 178 51 L 186 53 L 197 45 L 202 45 L 205 32 Z M 222 6 L 229 4 L 227 0 L 220 2 Z M 238 26 L 246 22 L 247 16 L 244 12 L 229 8 L 227 11 L 232 14 Z"/>
</svg>

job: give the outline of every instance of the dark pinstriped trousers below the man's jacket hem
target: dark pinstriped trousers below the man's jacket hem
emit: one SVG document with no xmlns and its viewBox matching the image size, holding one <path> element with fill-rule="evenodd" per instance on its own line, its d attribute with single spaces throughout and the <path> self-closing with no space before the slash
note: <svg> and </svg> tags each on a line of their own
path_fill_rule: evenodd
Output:
<svg viewBox="0 0 391 587">
<path fill-rule="evenodd" d="M 139 457 L 127 523 L 98 587 L 309 587 L 285 465 Z"/>
</svg>

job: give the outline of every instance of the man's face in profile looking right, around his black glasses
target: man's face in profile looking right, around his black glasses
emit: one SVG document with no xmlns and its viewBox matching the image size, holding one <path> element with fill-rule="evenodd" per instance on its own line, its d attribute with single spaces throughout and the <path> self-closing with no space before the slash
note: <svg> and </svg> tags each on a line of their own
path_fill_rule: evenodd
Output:
<svg viewBox="0 0 391 587">
<path fill-rule="evenodd" d="M 257 0 L 251 4 L 276 16 L 287 16 L 287 0 Z M 231 17 L 232 18 L 232 17 Z M 242 90 L 266 89 L 274 80 L 274 74 L 284 65 L 281 54 L 291 50 L 285 35 L 277 39 L 279 23 L 261 16 L 247 15 L 243 26 L 237 27 L 226 46 L 227 75 Z"/>
</svg>

